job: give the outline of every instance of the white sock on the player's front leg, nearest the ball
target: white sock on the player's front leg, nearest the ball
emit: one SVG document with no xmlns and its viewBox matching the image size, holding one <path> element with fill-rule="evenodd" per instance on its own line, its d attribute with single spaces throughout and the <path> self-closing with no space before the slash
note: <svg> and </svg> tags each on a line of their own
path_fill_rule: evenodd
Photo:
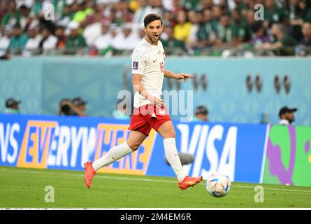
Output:
<svg viewBox="0 0 311 224">
<path fill-rule="evenodd" d="M 166 158 L 173 168 L 178 182 L 180 182 L 185 178 L 185 174 L 182 170 L 182 163 L 180 162 L 180 158 L 178 156 L 175 138 L 164 139 L 163 143 Z"/>
</svg>

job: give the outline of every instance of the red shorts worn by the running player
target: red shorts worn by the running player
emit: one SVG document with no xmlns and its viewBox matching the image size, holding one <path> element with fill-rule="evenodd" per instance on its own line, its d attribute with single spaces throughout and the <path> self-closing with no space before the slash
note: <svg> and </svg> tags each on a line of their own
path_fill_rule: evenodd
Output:
<svg viewBox="0 0 311 224">
<path fill-rule="evenodd" d="M 168 120 L 171 118 L 166 108 L 159 109 L 152 104 L 146 104 L 134 109 L 129 130 L 142 132 L 148 136 L 152 128 L 158 131 L 159 127 Z"/>
</svg>

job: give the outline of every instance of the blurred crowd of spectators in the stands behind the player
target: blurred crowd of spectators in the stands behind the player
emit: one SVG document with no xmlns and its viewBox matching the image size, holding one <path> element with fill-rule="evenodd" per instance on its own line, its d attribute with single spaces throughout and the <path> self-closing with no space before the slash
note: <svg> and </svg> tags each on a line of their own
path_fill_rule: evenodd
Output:
<svg viewBox="0 0 311 224">
<path fill-rule="evenodd" d="M 256 3 L 264 20 L 256 20 Z M 162 15 L 168 55 L 309 55 L 311 0 L 0 0 L 0 57 L 129 55 Z"/>
</svg>

